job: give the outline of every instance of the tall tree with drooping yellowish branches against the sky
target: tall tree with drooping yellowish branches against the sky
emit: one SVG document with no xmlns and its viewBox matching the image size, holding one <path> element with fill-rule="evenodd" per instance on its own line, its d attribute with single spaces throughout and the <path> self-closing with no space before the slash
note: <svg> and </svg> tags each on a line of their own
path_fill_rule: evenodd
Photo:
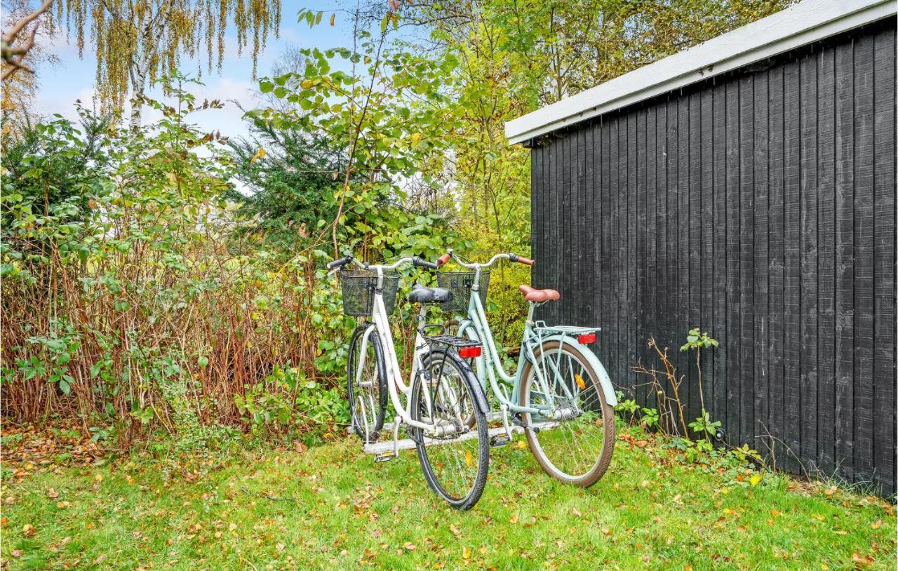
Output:
<svg viewBox="0 0 898 571">
<path fill-rule="evenodd" d="M 90 33 L 97 59 L 97 93 L 120 110 L 131 94 L 130 124 L 140 124 L 145 89 L 171 73 L 182 57 L 206 56 L 221 71 L 225 31 L 233 25 L 238 53 L 251 47 L 253 75 L 269 32 L 280 26 L 280 0 L 70 0 L 57 4 L 57 21 L 75 31 L 84 56 Z"/>
</svg>

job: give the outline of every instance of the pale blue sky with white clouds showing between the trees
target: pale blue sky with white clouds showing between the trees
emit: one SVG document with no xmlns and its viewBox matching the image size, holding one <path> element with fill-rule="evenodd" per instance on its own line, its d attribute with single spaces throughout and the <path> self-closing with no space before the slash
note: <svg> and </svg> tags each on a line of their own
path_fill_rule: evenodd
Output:
<svg viewBox="0 0 898 571">
<path fill-rule="evenodd" d="M 337 2 L 319 0 L 321 5 L 315 9 L 339 7 Z M 269 75 L 272 66 L 287 48 L 336 48 L 351 47 L 352 22 L 346 12 L 338 11 L 335 25 L 330 27 L 330 12 L 326 12 L 321 24 L 309 28 L 305 22 L 296 21 L 296 13 L 303 4 L 286 0 L 281 10 L 280 37 L 269 36 L 268 45 L 259 54 L 259 75 Z M 386 2 L 384 2 L 384 9 Z M 229 32 L 231 32 L 229 30 Z M 74 38 L 73 38 L 74 40 Z M 84 47 L 84 58 L 78 57 L 78 49 L 74 41 L 68 43 L 65 34 L 58 34 L 48 44 L 48 51 L 55 54 L 59 63 L 56 66 L 43 66 L 39 70 L 40 89 L 35 104 L 42 115 L 50 116 L 59 113 L 66 119 L 77 119 L 75 100 L 81 100 L 86 107 L 91 106 L 94 78 L 96 75 L 96 58 L 93 47 Z M 196 75 L 197 62 L 185 60 L 181 71 L 187 75 Z M 242 121 L 242 111 L 233 101 L 239 101 L 245 109 L 259 106 L 256 99 L 258 84 L 252 80 L 251 51 L 244 48 L 242 56 L 237 55 L 235 34 L 225 36 L 225 58 L 221 74 L 213 68 L 207 75 L 203 65 L 202 82 L 204 86 L 194 87 L 193 92 L 198 101 L 218 99 L 225 103 L 221 110 L 207 110 L 193 116 L 198 126 L 204 130 L 219 130 L 226 136 L 245 136 L 246 124 Z M 151 95 L 154 95 L 151 93 Z M 157 94 L 158 95 L 158 94 Z M 154 119 L 153 110 L 144 112 L 144 123 Z"/>
</svg>

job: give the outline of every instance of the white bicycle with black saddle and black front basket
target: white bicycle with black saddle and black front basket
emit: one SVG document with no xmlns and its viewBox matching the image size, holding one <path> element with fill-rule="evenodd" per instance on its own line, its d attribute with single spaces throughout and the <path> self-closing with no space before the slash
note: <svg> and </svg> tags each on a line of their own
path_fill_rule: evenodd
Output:
<svg viewBox="0 0 898 571">
<path fill-rule="evenodd" d="M 350 264 L 359 269 L 347 269 Z M 489 405 L 482 384 L 464 359 L 480 356 L 480 343 L 445 335 L 427 335 L 427 305 L 452 299 L 449 290 L 414 286 L 409 301 L 421 305 L 415 332 L 414 355 L 408 382 L 402 379 L 393 345 L 389 316 L 399 285 L 397 268 L 413 264 L 436 269 L 418 257 L 389 265 L 366 264 L 352 256 L 328 264 L 339 270 L 343 312 L 368 318 L 353 332 L 347 359 L 347 392 L 352 432 L 365 444 L 374 461 L 390 461 L 412 445 L 427 485 L 449 505 L 471 509 L 480 499 L 489 470 Z M 386 427 L 389 395 L 395 417 L 392 442 L 378 442 Z M 400 426 L 410 439 L 400 441 Z M 411 445 L 401 445 L 411 443 Z"/>
</svg>

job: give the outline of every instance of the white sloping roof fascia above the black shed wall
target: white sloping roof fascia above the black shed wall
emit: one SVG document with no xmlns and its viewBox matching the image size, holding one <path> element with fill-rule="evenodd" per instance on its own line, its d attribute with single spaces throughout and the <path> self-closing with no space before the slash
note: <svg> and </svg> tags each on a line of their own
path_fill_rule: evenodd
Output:
<svg viewBox="0 0 898 571">
<path fill-rule="evenodd" d="M 509 144 L 748 66 L 889 16 L 898 0 L 806 0 L 506 123 Z"/>
</svg>

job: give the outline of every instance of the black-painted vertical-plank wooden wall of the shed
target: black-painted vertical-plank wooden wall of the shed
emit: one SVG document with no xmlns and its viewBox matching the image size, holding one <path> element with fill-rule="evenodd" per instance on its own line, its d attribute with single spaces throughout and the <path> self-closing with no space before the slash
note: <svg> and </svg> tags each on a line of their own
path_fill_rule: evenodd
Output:
<svg viewBox="0 0 898 571">
<path fill-rule="evenodd" d="M 612 382 L 652 400 L 654 336 L 697 417 L 700 326 L 730 444 L 894 493 L 894 18 L 533 141 L 532 187 L 543 317 L 600 325 Z"/>
</svg>

